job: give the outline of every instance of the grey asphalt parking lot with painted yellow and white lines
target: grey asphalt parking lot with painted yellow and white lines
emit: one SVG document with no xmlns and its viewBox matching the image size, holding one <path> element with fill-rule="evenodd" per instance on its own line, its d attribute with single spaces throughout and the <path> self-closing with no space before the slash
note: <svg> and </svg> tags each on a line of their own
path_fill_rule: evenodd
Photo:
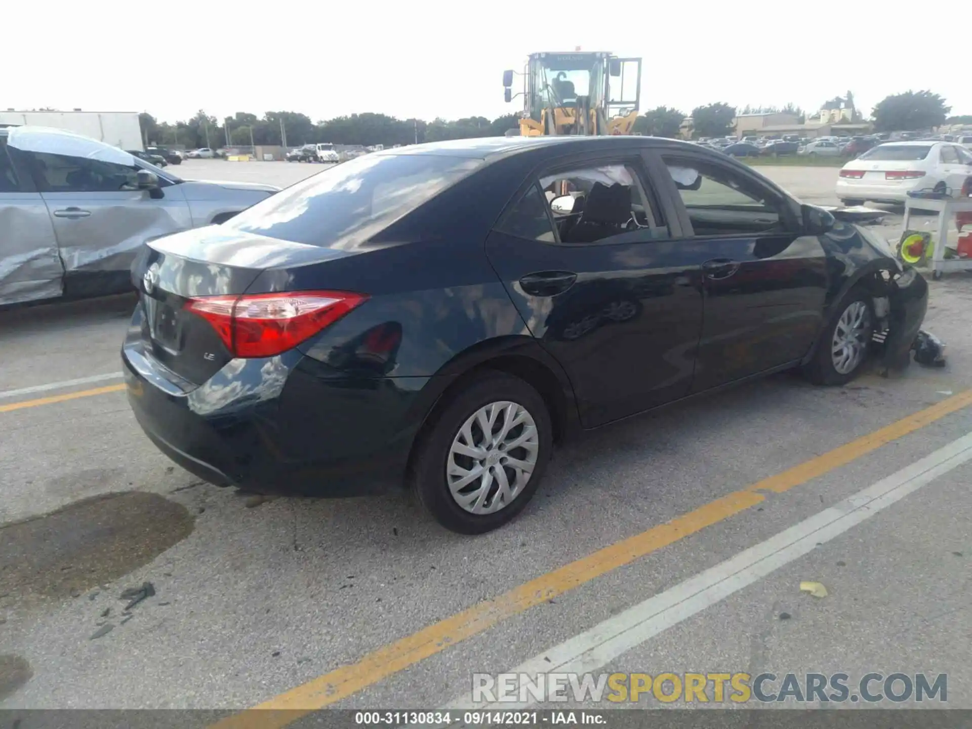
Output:
<svg viewBox="0 0 972 729">
<path fill-rule="evenodd" d="M 836 169 L 760 171 L 836 203 Z M 129 295 L 0 312 L 0 708 L 433 709 L 549 664 L 947 674 L 972 709 L 972 277 L 931 290 L 947 367 L 784 373 L 608 427 L 478 538 L 406 493 L 262 500 L 171 464 L 118 374 Z"/>
</svg>

